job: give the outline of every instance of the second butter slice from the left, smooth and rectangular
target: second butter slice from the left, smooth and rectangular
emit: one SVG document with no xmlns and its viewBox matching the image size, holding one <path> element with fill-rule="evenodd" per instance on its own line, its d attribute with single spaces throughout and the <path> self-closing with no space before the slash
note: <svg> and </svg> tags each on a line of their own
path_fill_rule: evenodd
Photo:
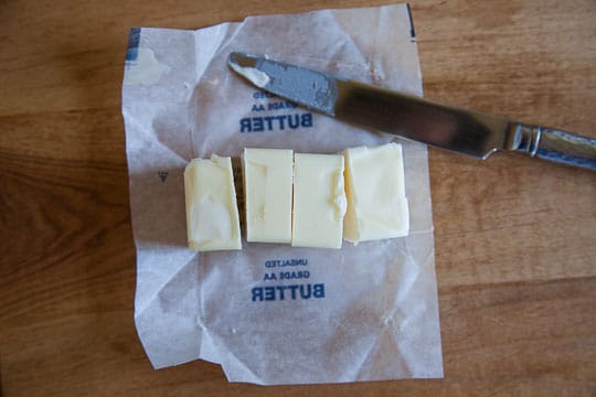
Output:
<svg viewBox="0 0 596 397">
<path fill-rule="evenodd" d="M 244 149 L 246 239 L 291 243 L 291 150 Z"/>
</svg>

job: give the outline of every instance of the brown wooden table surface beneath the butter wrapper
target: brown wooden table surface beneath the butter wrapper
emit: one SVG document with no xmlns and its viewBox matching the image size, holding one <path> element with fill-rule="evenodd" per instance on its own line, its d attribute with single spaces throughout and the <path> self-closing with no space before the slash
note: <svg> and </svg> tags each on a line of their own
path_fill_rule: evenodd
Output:
<svg viewBox="0 0 596 397">
<path fill-rule="evenodd" d="M 258 387 L 146 358 L 120 115 L 128 29 L 381 3 L 0 3 L 4 396 L 596 394 L 596 173 L 513 154 L 429 153 L 445 379 Z M 596 2 L 412 10 L 427 97 L 596 138 Z"/>
</svg>

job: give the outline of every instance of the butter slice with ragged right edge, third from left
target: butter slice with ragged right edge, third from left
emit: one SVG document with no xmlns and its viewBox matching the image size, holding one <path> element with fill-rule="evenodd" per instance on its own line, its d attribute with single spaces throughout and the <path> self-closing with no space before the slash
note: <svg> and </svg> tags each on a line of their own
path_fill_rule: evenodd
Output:
<svg viewBox="0 0 596 397">
<path fill-rule="evenodd" d="M 343 155 L 294 155 L 294 247 L 340 248 L 343 215 Z"/>
</svg>

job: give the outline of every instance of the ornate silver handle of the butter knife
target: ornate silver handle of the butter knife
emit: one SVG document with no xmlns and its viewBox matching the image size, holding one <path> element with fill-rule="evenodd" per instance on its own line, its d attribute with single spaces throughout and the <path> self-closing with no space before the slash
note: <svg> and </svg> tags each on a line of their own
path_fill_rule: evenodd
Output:
<svg viewBox="0 0 596 397">
<path fill-rule="evenodd" d="M 596 139 L 518 124 L 511 149 L 539 159 L 596 171 Z"/>
</svg>

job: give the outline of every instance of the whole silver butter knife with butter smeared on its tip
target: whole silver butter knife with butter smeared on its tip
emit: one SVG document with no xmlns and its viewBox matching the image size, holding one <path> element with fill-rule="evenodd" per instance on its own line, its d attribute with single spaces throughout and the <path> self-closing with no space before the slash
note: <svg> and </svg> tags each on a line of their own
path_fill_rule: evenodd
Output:
<svg viewBox="0 0 596 397">
<path fill-rule="evenodd" d="M 266 92 L 370 129 L 479 159 L 505 150 L 596 170 L 593 138 L 430 101 L 258 55 L 233 52 L 228 65 Z"/>
</svg>

